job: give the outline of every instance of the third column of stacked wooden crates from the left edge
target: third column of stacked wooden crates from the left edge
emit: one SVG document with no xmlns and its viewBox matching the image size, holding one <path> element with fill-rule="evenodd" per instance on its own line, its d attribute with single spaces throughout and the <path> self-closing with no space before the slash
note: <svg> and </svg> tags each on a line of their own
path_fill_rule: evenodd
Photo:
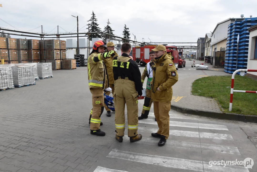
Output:
<svg viewBox="0 0 257 172">
<path fill-rule="evenodd" d="M 17 49 L 19 63 L 27 63 L 29 61 L 27 39 L 17 39 Z"/>
</svg>

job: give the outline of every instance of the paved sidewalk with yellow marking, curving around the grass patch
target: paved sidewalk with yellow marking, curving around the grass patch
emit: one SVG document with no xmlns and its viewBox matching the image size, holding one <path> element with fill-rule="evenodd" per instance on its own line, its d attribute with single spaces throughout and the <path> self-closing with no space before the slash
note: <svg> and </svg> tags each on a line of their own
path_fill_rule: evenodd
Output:
<svg viewBox="0 0 257 172">
<path fill-rule="evenodd" d="M 191 95 L 191 85 L 192 82 L 198 78 L 230 74 L 227 74 L 224 71 L 216 71 L 217 69 L 221 70 L 221 68 L 212 68 L 209 64 L 209 70 L 196 70 L 191 67 L 192 63 L 193 61 L 186 60 L 186 67 L 179 68 L 179 82 L 173 86 L 174 99 L 171 104 L 176 107 L 186 107 L 187 109 L 192 110 L 221 112 L 221 107 L 218 105 L 217 101 L 207 97 Z M 203 62 L 195 61 L 195 64 L 199 63 Z"/>
</svg>

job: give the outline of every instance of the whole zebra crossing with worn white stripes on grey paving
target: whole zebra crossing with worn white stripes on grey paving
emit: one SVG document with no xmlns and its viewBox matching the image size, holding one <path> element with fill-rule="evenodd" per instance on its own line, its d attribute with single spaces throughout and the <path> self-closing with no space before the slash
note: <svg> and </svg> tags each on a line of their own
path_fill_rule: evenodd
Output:
<svg viewBox="0 0 257 172">
<path fill-rule="evenodd" d="M 158 126 L 154 114 L 149 113 L 148 119 L 139 120 L 138 133 L 142 134 L 142 140 L 130 143 L 129 137 L 124 135 L 123 142 L 117 143 L 119 146 L 114 146 L 107 154 L 108 163 L 100 164 L 94 172 L 249 172 L 243 165 L 209 165 L 210 160 L 242 157 L 238 147 L 233 145 L 235 140 L 226 125 L 183 120 L 177 116 L 170 114 L 170 136 L 165 146 L 157 146 L 159 138 L 151 137 L 151 133 L 157 132 Z M 220 159 L 208 159 L 206 154 L 213 154 Z M 120 168 L 124 164 L 127 168 Z"/>
</svg>

